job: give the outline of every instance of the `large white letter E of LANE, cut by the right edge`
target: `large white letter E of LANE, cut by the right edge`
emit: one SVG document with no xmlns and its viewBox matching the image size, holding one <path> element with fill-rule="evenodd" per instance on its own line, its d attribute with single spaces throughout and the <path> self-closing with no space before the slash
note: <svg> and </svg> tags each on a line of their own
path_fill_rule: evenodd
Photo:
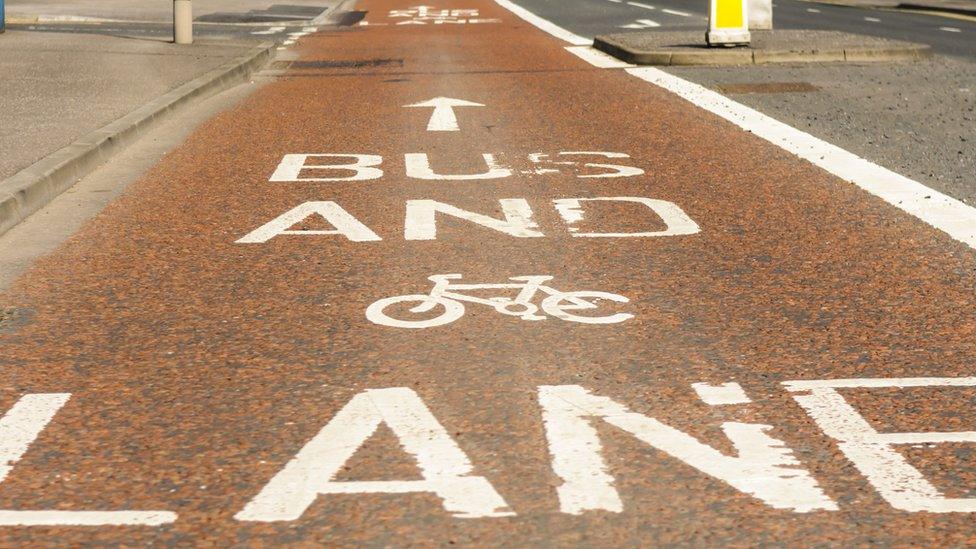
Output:
<svg viewBox="0 0 976 549">
<path fill-rule="evenodd" d="M 972 513 L 974 498 L 947 498 L 897 452 L 895 445 L 976 443 L 976 432 L 879 433 L 837 391 L 871 387 L 976 387 L 976 378 L 838 379 L 783 385 L 892 507 L 908 512 Z"/>
</svg>

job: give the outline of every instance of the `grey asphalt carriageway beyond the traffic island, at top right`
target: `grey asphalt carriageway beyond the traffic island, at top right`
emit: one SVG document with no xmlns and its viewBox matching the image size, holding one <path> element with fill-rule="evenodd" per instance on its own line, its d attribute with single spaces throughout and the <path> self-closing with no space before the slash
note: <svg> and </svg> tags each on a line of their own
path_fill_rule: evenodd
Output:
<svg viewBox="0 0 976 549">
<path fill-rule="evenodd" d="M 674 30 L 701 28 L 707 0 L 518 0 L 540 17 L 581 36 L 623 32 L 628 28 Z M 660 25 L 654 27 L 650 21 Z M 937 53 L 976 58 L 976 22 L 924 13 L 875 10 L 777 0 L 773 25 L 783 29 L 837 30 L 908 40 Z"/>
</svg>

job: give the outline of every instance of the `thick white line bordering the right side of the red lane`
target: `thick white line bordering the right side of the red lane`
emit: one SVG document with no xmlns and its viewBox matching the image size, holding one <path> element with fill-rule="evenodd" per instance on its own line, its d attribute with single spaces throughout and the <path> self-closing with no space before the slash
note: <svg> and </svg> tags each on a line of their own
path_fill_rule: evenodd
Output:
<svg viewBox="0 0 976 549">
<path fill-rule="evenodd" d="M 518 12 L 524 13 L 526 10 L 515 6 L 509 0 L 495 0 L 495 2 L 557 38 L 563 40 L 566 40 L 564 36 L 581 38 L 534 14 L 529 14 L 531 18 L 522 16 Z M 512 7 L 518 11 L 513 10 Z M 542 24 L 537 24 L 537 21 Z M 556 32 L 551 32 L 551 30 Z M 577 53 L 577 55 L 579 54 Z M 580 57 L 586 59 L 586 57 Z M 641 80 L 675 93 L 692 104 L 750 131 L 841 179 L 850 181 L 892 206 L 945 232 L 970 248 L 976 249 L 976 208 L 754 111 L 745 105 L 736 103 L 698 84 L 693 84 L 650 67 L 625 70 Z"/>
</svg>

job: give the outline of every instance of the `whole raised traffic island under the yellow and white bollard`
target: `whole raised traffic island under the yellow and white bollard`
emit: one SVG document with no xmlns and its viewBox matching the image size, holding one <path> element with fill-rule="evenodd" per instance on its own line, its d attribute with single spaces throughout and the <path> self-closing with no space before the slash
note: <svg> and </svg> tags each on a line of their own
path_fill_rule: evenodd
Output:
<svg viewBox="0 0 976 549">
<path fill-rule="evenodd" d="M 593 47 L 635 65 L 759 65 L 913 61 L 932 55 L 925 44 L 838 31 L 752 31 L 749 46 L 710 48 L 703 31 L 605 34 Z"/>
</svg>

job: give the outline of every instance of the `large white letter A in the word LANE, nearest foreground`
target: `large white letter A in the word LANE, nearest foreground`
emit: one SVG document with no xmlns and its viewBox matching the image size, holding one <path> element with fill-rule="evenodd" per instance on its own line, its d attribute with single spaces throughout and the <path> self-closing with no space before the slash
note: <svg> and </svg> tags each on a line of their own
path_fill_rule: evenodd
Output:
<svg viewBox="0 0 976 549">
<path fill-rule="evenodd" d="M 337 481 L 344 465 L 380 424 L 414 457 L 423 480 Z M 417 393 L 406 387 L 354 396 L 244 508 L 241 521 L 291 521 L 323 494 L 434 493 L 455 518 L 515 513 L 474 467 Z"/>
</svg>

